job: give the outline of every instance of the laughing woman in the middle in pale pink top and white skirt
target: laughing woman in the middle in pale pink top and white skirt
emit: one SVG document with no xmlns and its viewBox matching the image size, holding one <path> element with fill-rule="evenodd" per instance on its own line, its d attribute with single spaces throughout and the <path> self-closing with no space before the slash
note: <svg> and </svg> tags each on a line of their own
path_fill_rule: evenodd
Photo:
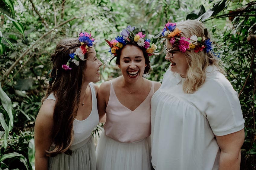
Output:
<svg viewBox="0 0 256 170">
<path fill-rule="evenodd" d="M 122 76 L 99 88 L 98 111 L 106 123 L 96 148 L 98 170 L 151 169 L 151 97 L 161 83 L 142 77 L 150 70 L 155 44 L 130 26 L 115 40 L 107 41 Z"/>
</svg>

